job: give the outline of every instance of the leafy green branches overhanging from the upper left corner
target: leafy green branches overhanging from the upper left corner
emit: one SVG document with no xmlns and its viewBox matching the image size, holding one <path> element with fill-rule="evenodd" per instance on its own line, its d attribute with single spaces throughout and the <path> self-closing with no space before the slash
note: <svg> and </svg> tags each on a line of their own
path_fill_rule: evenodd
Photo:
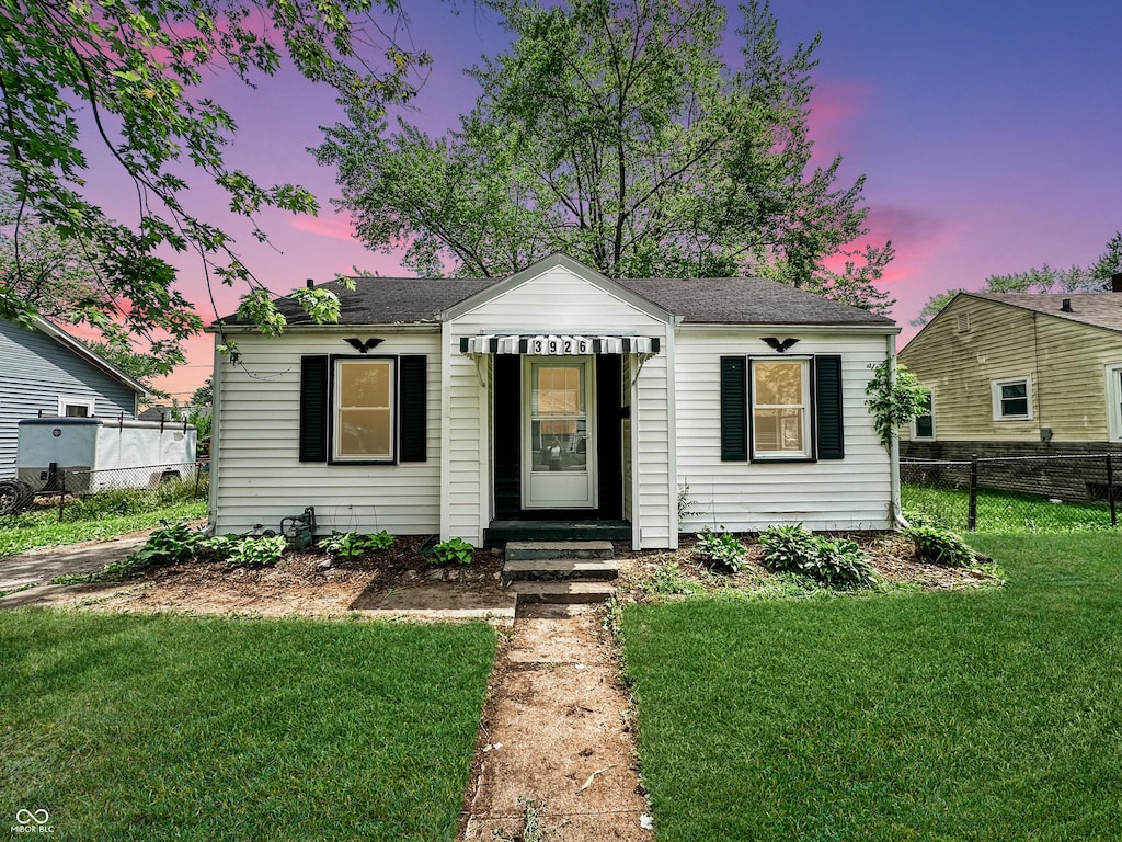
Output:
<svg viewBox="0 0 1122 842">
<path fill-rule="evenodd" d="M 224 72 L 246 84 L 274 74 L 287 54 L 313 81 L 324 82 L 356 119 L 379 115 L 387 101 L 412 95 L 407 74 L 427 62 L 392 42 L 365 34 L 370 0 L 7 0 L 0 3 L 0 150 L 3 177 L 19 212 L 8 223 L 11 255 L 0 276 L 0 315 L 58 314 L 52 293 L 21 254 L 18 235 L 53 232 L 61 249 L 89 264 L 84 309 L 107 313 L 130 332 L 201 329 L 191 304 L 171 292 L 174 271 L 155 255 L 163 247 L 196 253 L 208 276 L 260 286 L 212 220 L 185 201 L 190 163 L 195 179 L 229 195 L 231 213 L 256 221 L 265 208 L 314 213 L 315 198 L 294 184 L 267 185 L 226 164 L 237 131 L 217 102 L 195 95 L 206 74 Z M 393 2 L 378 2 L 394 8 Z M 386 31 L 384 29 L 383 31 Z M 362 33 L 362 34 L 360 34 Z M 373 48 L 380 55 L 364 55 Z M 388 55 L 386 54 L 388 49 Z M 76 111 L 88 115 L 82 127 Z M 129 223 L 109 219 L 86 191 L 85 150 L 109 150 L 120 182 L 135 196 Z M 59 294 L 65 290 L 58 290 Z M 31 293 L 30 296 L 28 293 Z M 65 298 L 65 295 L 63 295 Z M 27 302 L 22 305 L 17 302 Z M 313 301 L 320 312 L 322 302 Z M 261 328 L 279 324 L 250 303 Z M 67 310 L 66 306 L 57 310 Z"/>
</svg>

